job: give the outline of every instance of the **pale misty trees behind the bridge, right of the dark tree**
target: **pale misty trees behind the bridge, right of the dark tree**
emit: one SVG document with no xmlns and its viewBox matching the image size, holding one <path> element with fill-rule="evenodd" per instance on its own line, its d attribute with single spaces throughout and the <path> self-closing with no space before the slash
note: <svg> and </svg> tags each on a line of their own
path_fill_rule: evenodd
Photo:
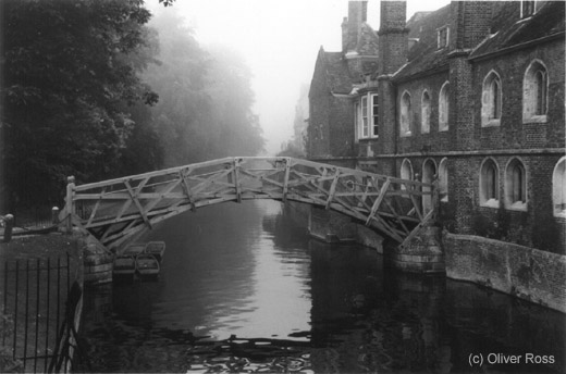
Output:
<svg viewBox="0 0 566 374">
<path fill-rule="evenodd" d="M 151 26 L 159 32 L 161 64 L 145 77 L 160 97 L 152 113 L 164 165 L 257 154 L 263 139 L 242 59 L 225 48 L 205 50 L 173 13 L 158 13 Z"/>
</svg>

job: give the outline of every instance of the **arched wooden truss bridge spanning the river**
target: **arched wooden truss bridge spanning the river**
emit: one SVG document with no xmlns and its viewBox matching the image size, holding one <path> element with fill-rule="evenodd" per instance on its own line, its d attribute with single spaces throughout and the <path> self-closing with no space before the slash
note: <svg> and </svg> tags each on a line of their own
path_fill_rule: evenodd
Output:
<svg viewBox="0 0 566 374">
<path fill-rule="evenodd" d="M 67 226 L 89 232 L 109 248 L 187 210 L 242 200 L 273 199 L 323 207 L 354 217 L 405 246 L 433 220 L 430 184 L 292 158 L 226 158 L 139 175 L 75 185 L 70 177 L 61 212 Z"/>
</svg>

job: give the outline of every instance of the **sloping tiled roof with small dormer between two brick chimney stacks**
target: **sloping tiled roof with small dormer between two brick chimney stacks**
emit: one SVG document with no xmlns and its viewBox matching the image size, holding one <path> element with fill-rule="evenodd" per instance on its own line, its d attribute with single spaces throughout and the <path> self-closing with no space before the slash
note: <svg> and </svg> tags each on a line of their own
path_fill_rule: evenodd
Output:
<svg viewBox="0 0 566 374">
<path fill-rule="evenodd" d="M 438 48 L 438 29 L 450 22 L 450 4 L 434 12 L 416 13 L 408 22 L 408 37 L 418 39 L 409 50 L 408 62 L 394 79 L 408 78 L 415 74 L 447 68 L 448 48 Z"/>
</svg>

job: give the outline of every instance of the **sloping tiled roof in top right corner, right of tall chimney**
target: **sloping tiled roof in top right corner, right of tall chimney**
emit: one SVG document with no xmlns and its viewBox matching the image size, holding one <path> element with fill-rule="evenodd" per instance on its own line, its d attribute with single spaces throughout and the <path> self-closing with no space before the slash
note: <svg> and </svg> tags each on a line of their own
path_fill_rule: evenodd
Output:
<svg viewBox="0 0 566 374">
<path fill-rule="evenodd" d="M 493 17 L 492 35 L 480 43 L 470 59 L 525 42 L 564 33 L 564 1 L 546 1 L 532 16 L 520 20 L 520 2 L 505 3 Z"/>
</svg>

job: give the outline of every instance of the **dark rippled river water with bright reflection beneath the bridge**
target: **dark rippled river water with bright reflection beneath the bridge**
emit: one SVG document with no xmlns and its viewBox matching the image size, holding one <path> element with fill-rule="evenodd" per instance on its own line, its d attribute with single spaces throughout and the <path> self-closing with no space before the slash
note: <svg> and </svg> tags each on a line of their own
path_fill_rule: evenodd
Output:
<svg viewBox="0 0 566 374">
<path fill-rule="evenodd" d="M 565 371 L 563 314 L 317 241 L 291 209 L 223 203 L 156 227 L 157 280 L 86 290 L 77 371 Z"/>
</svg>

